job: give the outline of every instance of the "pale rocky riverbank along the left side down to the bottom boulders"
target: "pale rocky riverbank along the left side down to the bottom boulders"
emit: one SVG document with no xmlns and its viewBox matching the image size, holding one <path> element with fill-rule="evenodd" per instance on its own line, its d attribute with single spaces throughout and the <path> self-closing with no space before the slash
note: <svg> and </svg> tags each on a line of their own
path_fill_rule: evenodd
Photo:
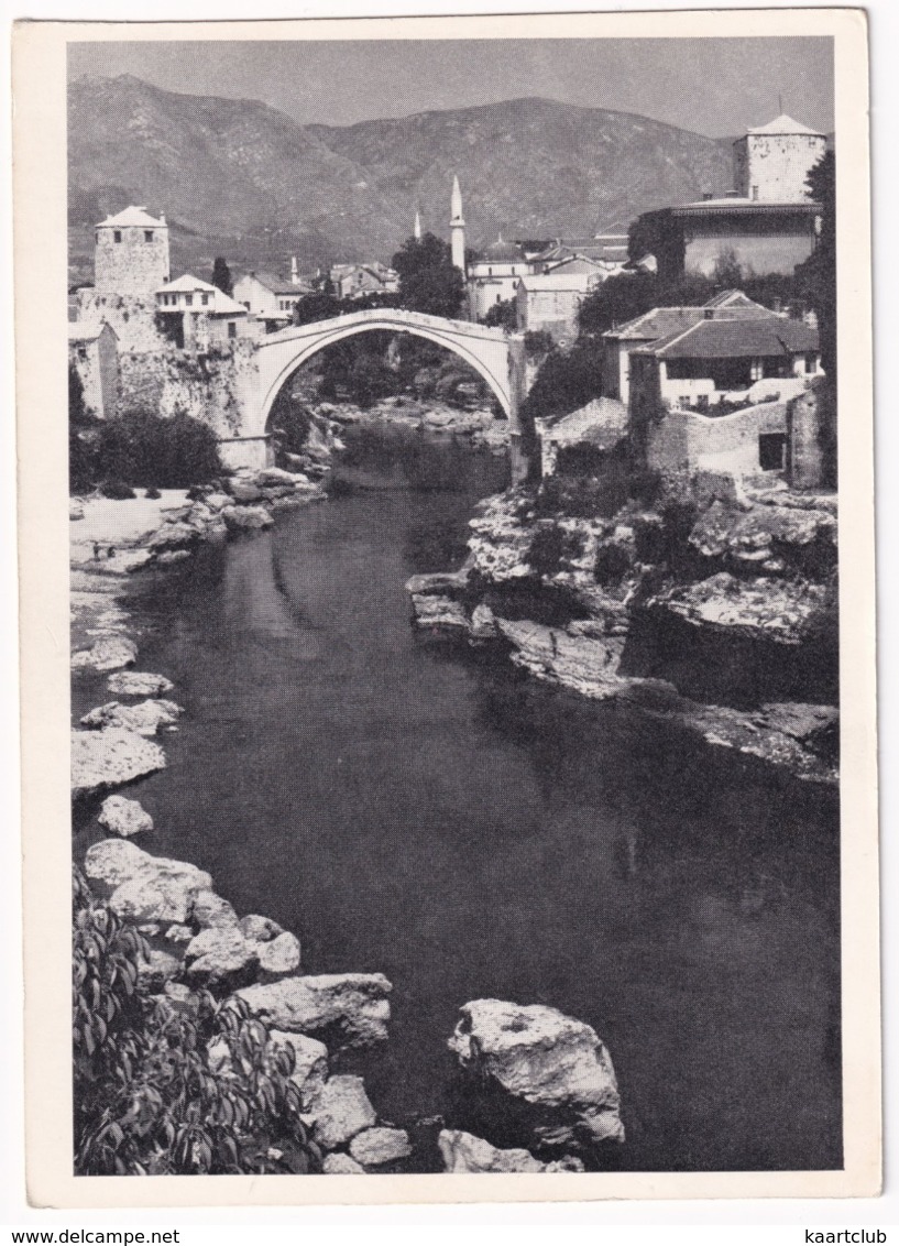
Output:
<svg viewBox="0 0 899 1246">
<path fill-rule="evenodd" d="M 164 673 L 136 669 L 128 587 L 204 541 L 268 527 L 279 511 L 324 497 L 305 475 L 274 470 L 192 493 L 72 506 L 73 678 L 105 673 L 110 695 L 72 731 L 72 797 L 107 835 L 85 855 L 92 891 L 147 941 L 137 988 L 187 1015 L 200 1007 L 200 992 L 243 1001 L 269 1045 L 293 1053 L 301 1119 L 325 1174 L 601 1166 L 624 1129 L 611 1059 L 589 1025 L 540 1006 L 468 1002 L 448 1035 L 459 1091 L 452 1119 L 386 1120 L 359 1062 L 388 1039 L 387 978 L 308 972 L 294 932 L 260 913 L 239 915 L 208 872 L 148 851 L 158 827 L 120 789 L 164 769 L 164 736 L 191 706 L 179 704 Z M 214 1078 L 233 1074 L 225 1043 L 212 1044 L 204 1059 Z M 473 1120 L 478 1133 L 458 1128 Z"/>
</svg>

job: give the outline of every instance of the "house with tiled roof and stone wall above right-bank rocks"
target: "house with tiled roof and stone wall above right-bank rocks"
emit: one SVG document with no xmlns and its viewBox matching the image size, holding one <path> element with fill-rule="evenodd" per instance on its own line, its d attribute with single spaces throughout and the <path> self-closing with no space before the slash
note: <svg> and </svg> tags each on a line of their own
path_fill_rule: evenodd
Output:
<svg viewBox="0 0 899 1246">
<path fill-rule="evenodd" d="M 701 319 L 631 353 L 631 444 L 664 475 L 783 471 L 789 405 L 819 375 L 803 321 Z"/>
</svg>

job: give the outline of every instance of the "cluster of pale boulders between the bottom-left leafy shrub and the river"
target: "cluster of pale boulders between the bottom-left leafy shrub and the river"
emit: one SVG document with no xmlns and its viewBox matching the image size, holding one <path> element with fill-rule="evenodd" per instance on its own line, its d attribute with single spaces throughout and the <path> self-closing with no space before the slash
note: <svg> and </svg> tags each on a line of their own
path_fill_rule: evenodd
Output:
<svg viewBox="0 0 899 1246">
<path fill-rule="evenodd" d="M 325 1172 L 379 1171 L 411 1154 L 408 1134 L 379 1121 L 362 1078 L 330 1074 L 332 1055 L 386 1039 L 391 984 L 382 974 L 303 974 L 294 933 L 257 913 L 238 917 L 204 870 L 126 840 L 92 845 L 83 870 L 103 902 L 147 939 L 139 989 L 186 1011 L 198 988 L 234 993 L 265 1022 L 273 1048 L 293 1049 L 291 1079 L 303 1120 L 327 1153 Z M 230 1074 L 224 1039 L 208 1057 L 217 1075 Z"/>
</svg>

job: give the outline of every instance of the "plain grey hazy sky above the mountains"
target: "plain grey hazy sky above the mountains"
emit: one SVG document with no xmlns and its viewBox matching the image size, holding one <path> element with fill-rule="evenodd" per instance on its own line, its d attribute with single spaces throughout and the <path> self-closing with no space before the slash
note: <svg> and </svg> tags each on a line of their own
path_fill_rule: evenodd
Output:
<svg viewBox="0 0 899 1246">
<path fill-rule="evenodd" d="M 783 111 L 833 128 L 829 39 L 560 39 L 70 44 L 70 74 L 134 74 L 351 125 L 545 96 L 720 137 Z"/>
</svg>

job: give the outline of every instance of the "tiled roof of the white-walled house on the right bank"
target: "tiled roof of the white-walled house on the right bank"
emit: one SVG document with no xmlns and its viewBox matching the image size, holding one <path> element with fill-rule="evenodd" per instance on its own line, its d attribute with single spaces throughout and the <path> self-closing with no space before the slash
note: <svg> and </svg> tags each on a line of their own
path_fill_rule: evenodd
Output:
<svg viewBox="0 0 899 1246">
<path fill-rule="evenodd" d="M 818 349 L 818 330 L 802 320 L 768 316 L 751 320 L 700 320 L 636 354 L 656 359 L 756 359 Z"/>
</svg>

